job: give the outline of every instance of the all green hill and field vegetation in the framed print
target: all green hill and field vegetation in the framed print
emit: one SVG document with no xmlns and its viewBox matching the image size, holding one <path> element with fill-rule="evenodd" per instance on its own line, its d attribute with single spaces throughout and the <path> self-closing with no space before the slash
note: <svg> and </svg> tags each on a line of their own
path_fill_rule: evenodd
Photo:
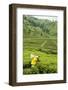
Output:
<svg viewBox="0 0 68 90">
<path fill-rule="evenodd" d="M 23 74 L 57 73 L 57 21 L 23 16 Z M 40 56 L 32 67 L 30 54 Z"/>
</svg>

